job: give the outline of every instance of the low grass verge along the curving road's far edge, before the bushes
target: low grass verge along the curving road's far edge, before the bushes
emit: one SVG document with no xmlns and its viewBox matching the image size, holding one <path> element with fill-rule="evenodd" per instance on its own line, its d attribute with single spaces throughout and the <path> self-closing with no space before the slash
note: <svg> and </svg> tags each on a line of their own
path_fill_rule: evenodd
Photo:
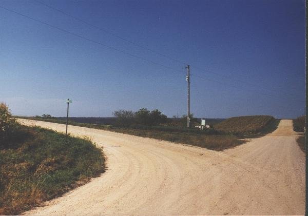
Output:
<svg viewBox="0 0 308 216">
<path fill-rule="evenodd" d="M 41 119 L 36 119 L 35 117 L 26 117 L 26 119 L 41 121 Z M 44 121 L 66 124 L 65 121 L 56 119 L 44 119 Z M 239 140 L 233 134 L 224 134 L 215 131 L 213 129 L 201 131 L 195 128 L 188 129 L 185 127 L 176 127 L 176 126 L 171 127 L 171 126 L 133 125 L 130 127 L 120 127 L 111 125 L 83 124 L 75 122 L 69 122 L 69 124 L 81 127 L 109 130 L 118 133 L 125 133 L 130 135 L 142 136 L 146 138 L 153 138 L 157 140 L 165 140 L 175 143 L 189 144 L 217 151 L 232 148 L 245 143 L 245 141 Z"/>
</svg>

